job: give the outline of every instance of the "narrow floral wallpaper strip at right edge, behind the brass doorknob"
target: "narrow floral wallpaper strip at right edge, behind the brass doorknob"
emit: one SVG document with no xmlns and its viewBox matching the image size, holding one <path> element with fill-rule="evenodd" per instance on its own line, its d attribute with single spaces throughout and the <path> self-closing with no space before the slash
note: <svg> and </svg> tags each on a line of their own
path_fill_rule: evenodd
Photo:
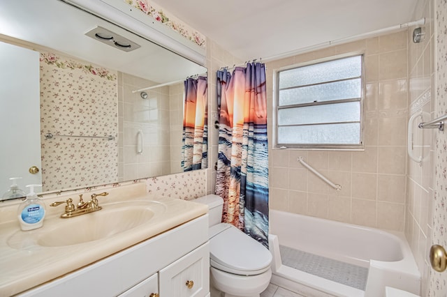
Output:
<svg viewBox="0 0 447 297">
<path fill-rule="evenodd" d="M 447 0 L 439 0 L 437 26 L 437 116 L 447 113 Z M 447 248 L 447 132 L 437 131 L 432 244 Z M 446 272 L 430 269 L 429 296 L 447 296 Z"/>
</svg>

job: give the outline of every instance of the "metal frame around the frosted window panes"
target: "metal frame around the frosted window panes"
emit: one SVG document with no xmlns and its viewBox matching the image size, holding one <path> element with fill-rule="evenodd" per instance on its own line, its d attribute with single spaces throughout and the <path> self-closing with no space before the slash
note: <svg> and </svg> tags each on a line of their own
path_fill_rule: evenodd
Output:
<svg viewBox="0 0 447 297">
<path fill-rule="evenodd" d="M 318 106 L 318 105 L 330 105 L 343 102 L 360 102 L 360 144 L 281 144 L 278 142 L 278 111 L 279 107 L 279 73 L 285 70 L 291 70 L 294 68 L 301 68 L 305 66 L 312 66 L 318 63 L 324 63 L 329 61 L 335 61 L 339 59 L 346 59 L 353 56 L 361 56 L 361 85 L 360 85 L 360 100 L 357 98 L 349 98 L 337 100 L 336 103 L 316 102 L 314 103 L 302 103 L 298 105 L 288 105 L 286 108 L 291 107 L 306 107 L 306 106 Z M 365 150 L 365 53 L 364 52 L 350 52 L 348 54 L 341 54 L 337 56 L 328 56 L 323 59 L 316 59 L 307 61 L 304 63 L 298 63 L 283 68 L 277 68 L 274 70 L 274 86 L 273 86 L 273 149 L 299 149 L 299 150 L 328 150 L 328 151 L 364 151 Z M 284 107 L 283 107 L 284 108 Z M 330 124 L 330 123 L 329 123 Z"/>
</svg>

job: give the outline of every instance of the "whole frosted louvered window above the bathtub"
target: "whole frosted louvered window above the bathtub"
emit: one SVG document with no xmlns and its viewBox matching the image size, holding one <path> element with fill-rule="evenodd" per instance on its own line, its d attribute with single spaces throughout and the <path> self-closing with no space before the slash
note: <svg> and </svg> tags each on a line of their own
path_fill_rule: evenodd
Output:
<svg viewBox="0 0 447 297">
<path fill-rule="evenodd" d="M 362 58 L 277 72 L 276 148 L 362 149 Z"/>
</svg>

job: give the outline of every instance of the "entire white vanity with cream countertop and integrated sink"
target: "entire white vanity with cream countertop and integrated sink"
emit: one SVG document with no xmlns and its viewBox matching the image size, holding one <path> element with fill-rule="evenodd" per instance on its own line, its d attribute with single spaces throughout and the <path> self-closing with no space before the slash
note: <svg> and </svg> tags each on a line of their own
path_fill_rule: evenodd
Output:
<svg viewBox="0 0 447 297">
<path fill-rule="evenodd" d="M 63 219 L 63 207 L 47 209 L 41 229 L 20 231 L 14 220 L 2 220 L 0 296 L 208 296 L 207 207 L 145 195 L 122 199 L 126 188 L 112 189 L 95 213 Z M 12 219 L 6 208 L 0 215 Z M 96 215 L 124 227 L 109 230 Z"/>
</svg>

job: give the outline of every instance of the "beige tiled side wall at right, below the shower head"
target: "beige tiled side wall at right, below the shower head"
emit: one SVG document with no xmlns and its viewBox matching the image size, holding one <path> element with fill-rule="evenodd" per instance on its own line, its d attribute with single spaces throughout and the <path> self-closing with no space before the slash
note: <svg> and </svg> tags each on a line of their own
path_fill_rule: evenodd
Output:
<svg viewBox="0 0 447 297">
<path fill-rule="evenodd" d="M 425 17 L 426 24 L 423 29 L 423 41 L 413 43 L 413 29 L 408 31 L 409 50 L 409 117 L 413 114 L 426 112 L 424 120 L 434 119 L 435 109 L 435 67 L 434 46 L 434 0 L 420 0 L 416 7 L 414 20 Z M 428 119 L 427 119 L 428 118 Z M 415 125 L 420 123 L 417 119 Z M 421 130 L 413 128 L 414 153 L 423 156 L 423 162 L 417 162 L 407 158 L 406 176 L 406 223 L 405 235 L 422 275 L 422 296 L 427 295 L 428 277 L 430 276 L 430 264 L 428 251 L 431 246 L 432 234 L 432 208 L 434 199 L 434 150 L 436 131 L 432 129 Z"/>
</svg>

